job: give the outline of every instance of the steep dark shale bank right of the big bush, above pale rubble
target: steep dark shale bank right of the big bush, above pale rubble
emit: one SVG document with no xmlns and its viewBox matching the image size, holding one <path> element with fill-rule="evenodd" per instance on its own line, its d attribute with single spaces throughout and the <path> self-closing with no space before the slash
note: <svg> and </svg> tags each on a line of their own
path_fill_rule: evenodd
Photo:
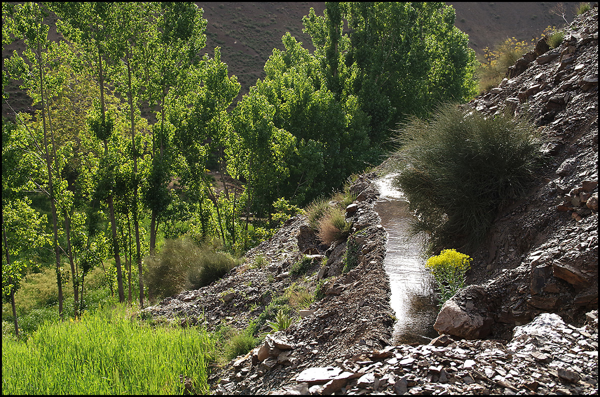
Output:
<svg viewBox="0 0 600 397">
<path fill-rule="evenodd" d="M 451 329 L 450 319 L 456 307 L 473 303 L 471 317 L 494 323 L 480 333 L 490 328 L 507 339 L 542 312 L 577 324 L 598 306 L 598 8 L 578 17 L 559 47 L 534 50 L 517 66 L 499 88 L 466 106 L 489 116 L 528 116 L 548 165 L 529 195 L 499 214 L 487 246 L 472 254 L 469 281 L 485 299 L 463 292 L 442 309 L 437 326 L 450 335 L 473 333 Z"/>
</svg>

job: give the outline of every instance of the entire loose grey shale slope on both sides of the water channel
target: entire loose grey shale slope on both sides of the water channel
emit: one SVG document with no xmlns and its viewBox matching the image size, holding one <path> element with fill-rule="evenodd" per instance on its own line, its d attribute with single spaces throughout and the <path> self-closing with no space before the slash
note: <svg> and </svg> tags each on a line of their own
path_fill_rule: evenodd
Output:
<svg viewBox="0 0 600 397">
<path fill-rule="evenodd" d="M 597 394 L 597 6 L 559 47 L 538 43 L 499 88 L 466 107 L 529 115 L 548 163 L 472 254 L 470 285 L 443 306 L 431 344 L 389 342 L 377 173 L 352 186 L 350 247 L 320 244 L 297 216 L 220 281 L 146 315 L 243 329 L 282 296 L 290 305 L 302 292 L 315 297 L 308 308 L 292 305 L 292 326 L 215 372 L 217 394 Z"/>
</svg>

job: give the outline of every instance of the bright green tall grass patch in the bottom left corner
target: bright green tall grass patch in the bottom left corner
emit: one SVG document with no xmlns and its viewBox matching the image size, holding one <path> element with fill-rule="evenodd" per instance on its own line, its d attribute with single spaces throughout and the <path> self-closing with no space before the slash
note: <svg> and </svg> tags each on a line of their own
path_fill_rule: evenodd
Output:
<svg viewBox="0 0 600 397">
<path fill-rule="evenodd" d="M 46 323 L 27 342 L 2 337 L 2 394 L 181 394 L 179 375 L 208 392 L 215 340 L 199 329 L 157 327 L 125 309 Z"/>
</svg>

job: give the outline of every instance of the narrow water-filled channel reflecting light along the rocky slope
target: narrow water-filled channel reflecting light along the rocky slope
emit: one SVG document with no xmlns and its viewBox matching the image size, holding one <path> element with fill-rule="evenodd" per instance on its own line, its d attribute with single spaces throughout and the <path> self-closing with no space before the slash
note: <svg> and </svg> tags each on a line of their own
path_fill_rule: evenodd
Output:
<svg viewBox="0 0 600 397">
<path fill-rule="evenodd" d="M 393 344 L 424 344 L 438 336 L 433 329 L 437 316 L 431 275 L 421 256 L 422 237 L 409 238 L 408 202 L 392 186 L 393 175 L 378 179 L 381 190 L 374 209 L 388 232 L 385 270 L 391 287 L 391 306 L 397 321 L 392 334 Z"/>
</svg>

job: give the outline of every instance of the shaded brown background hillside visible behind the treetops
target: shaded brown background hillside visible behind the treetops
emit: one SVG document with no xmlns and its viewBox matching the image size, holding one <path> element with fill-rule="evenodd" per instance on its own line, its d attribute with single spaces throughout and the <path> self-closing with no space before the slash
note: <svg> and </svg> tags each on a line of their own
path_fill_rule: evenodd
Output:
<svg viewBox="0 0 600 397">
<path fill-rule="evenodd" d="M 298 41 L 312 48 L 310 38 L 302 32 L 302 17 L 314 8 L 322 15 L 325 2 L 197 2 L 208 20 L 206 52 L 212 55 L 221 47 L 221 59 L 229 66 L 229 73 L 238 76 L 241 95 L 248 92 L 257 79 L 262 79 L 263 66 L 274 48 L 283 49 L 281 37 L 291 32 Z M 566 25 L 562 17 L 552 12 L 563 4 L 571 22 L 577 2 L 448 2 L 457 11 L 456 23 L 469 34 L 470 46 L 481 55 L 485 47 L 493 47 L 506 38 L 531 40 L 539 37 L 548 26 Z M 50 19 L 52 23 L 52 19 Z M 52 37 L 52 31 L 50 32 Z M 56 34 L 53 35 L 56 37 Z M 14 43 L 2 50 L 2 58 L 10 56 Z M 10 106 L 16 112 L 27 110 L 28 97 L 16 84 L 7 87 L 11 93 Z M 2 104 L 2 115 L 12 112 Z"/>
</svg>

